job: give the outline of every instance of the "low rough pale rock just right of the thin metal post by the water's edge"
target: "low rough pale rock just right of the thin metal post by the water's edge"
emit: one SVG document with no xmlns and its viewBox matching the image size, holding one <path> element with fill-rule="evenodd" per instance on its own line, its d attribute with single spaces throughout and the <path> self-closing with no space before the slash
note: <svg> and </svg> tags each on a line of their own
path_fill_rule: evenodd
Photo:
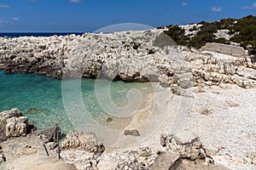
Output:
<svg viewBox="0 0 256 170">
<path fill-rule="evenodd" d="M 68 133 L 61 142 L 61 149 L 79 149 L 101 155 L 105 150 L 94 133 Z"/>
</svg>

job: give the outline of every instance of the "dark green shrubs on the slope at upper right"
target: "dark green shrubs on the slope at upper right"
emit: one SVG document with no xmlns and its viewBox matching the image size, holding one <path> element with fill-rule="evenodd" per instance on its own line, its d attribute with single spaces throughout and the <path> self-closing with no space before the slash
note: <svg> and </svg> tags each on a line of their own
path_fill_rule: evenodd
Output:
<svg viewBox="0 0 256 170">
<path fill-rule="evenodd" d="M 189 31 L 197 31 L 196 35 L 185 35 L 185 30 L 180 26 L 166 26 L 168 31 L 164 31 L 168 37 L 177 45 L 187 46 L 189 48 L 201 48 L 207 42 L 218 42 L 230 44 L 237 42 L 242 48 L 249 51 L 249 54 L 256 54 L 256 16 L 248 15 L 247 17 L 236 19 L 223 19 L 215 22 L 201 21 L 202 26 L 197 29 L 191 28 Z M 233 37 L 227 40 L 223 37 L 216 38 L 214 33 L 218 30 L 229 30 L 229 34 Z"/>
</svg>

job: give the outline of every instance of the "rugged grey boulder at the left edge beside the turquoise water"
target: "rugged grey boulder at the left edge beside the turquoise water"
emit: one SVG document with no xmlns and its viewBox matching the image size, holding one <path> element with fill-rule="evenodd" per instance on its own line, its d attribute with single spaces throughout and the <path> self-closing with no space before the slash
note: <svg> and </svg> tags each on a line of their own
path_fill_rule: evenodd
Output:
<svg viewBox="0 0 256 170">
<path fill-rule="evenodd" d="M 0 113 L 0 141 L 26 135 L 31 133 L 33 128 L 33 125 L 28 123 L 26 116 L 23 116 L 18 109 Z"/>
</svg>

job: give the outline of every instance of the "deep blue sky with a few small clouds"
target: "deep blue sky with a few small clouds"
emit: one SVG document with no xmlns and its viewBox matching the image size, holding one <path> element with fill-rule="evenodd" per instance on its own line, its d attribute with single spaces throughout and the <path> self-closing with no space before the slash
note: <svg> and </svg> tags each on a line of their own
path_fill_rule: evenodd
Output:
<svg viewBox="0 0 256 170">
<path fill-rule="evenodd" d="M 256 15 L 256 0 L 0 0 L 0 32 L 91 32 Z"/>
</svg>

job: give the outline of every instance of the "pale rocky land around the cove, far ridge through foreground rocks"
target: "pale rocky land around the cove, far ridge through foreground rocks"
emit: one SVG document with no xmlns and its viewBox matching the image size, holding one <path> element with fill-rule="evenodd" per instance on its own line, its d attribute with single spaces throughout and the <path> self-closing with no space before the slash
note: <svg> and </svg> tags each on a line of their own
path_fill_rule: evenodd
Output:
<svg viewBox="0 0 256 170">
<path fill-rule="evenodd" d="M 1 37 L 0 68 L 6 73 L 160 82 L 166 90 L 159 92 L 161 98 L 155 105 L 165 107 L 167 115 L 182 111 L 186 119 L 172 133 L 169 117 L 150 139 L 127 148 L 105 147 L 93 132 L 69 133 L 61 142 L 64 164 L 56 160 L 55 149 L 49 151 L 49 157 L 45 155 L 39 139 L 44 133 L 38 133 L 26 116 L 16 109 L 3 111 L 0 168 L 255 169 L 253 57 L 241 48 L 224 44 L 211 43 L 199 50 L 177 46 L 162 31 Z M 230 51 L 237 51 L 236 56 Z M 164 99 L 165 94 L 172 98 Z M 189 102 L 183 107 L 177 100 Z M 129 129 L 136 129 L 145 113 L 134 116 Z M 131 134 L 127 138 L 137 138 L 132 134 L 141 133 L 126 132 Z M 46 137 L 44 142 L 52 148 L 53 141 Z"/>
</svg>

